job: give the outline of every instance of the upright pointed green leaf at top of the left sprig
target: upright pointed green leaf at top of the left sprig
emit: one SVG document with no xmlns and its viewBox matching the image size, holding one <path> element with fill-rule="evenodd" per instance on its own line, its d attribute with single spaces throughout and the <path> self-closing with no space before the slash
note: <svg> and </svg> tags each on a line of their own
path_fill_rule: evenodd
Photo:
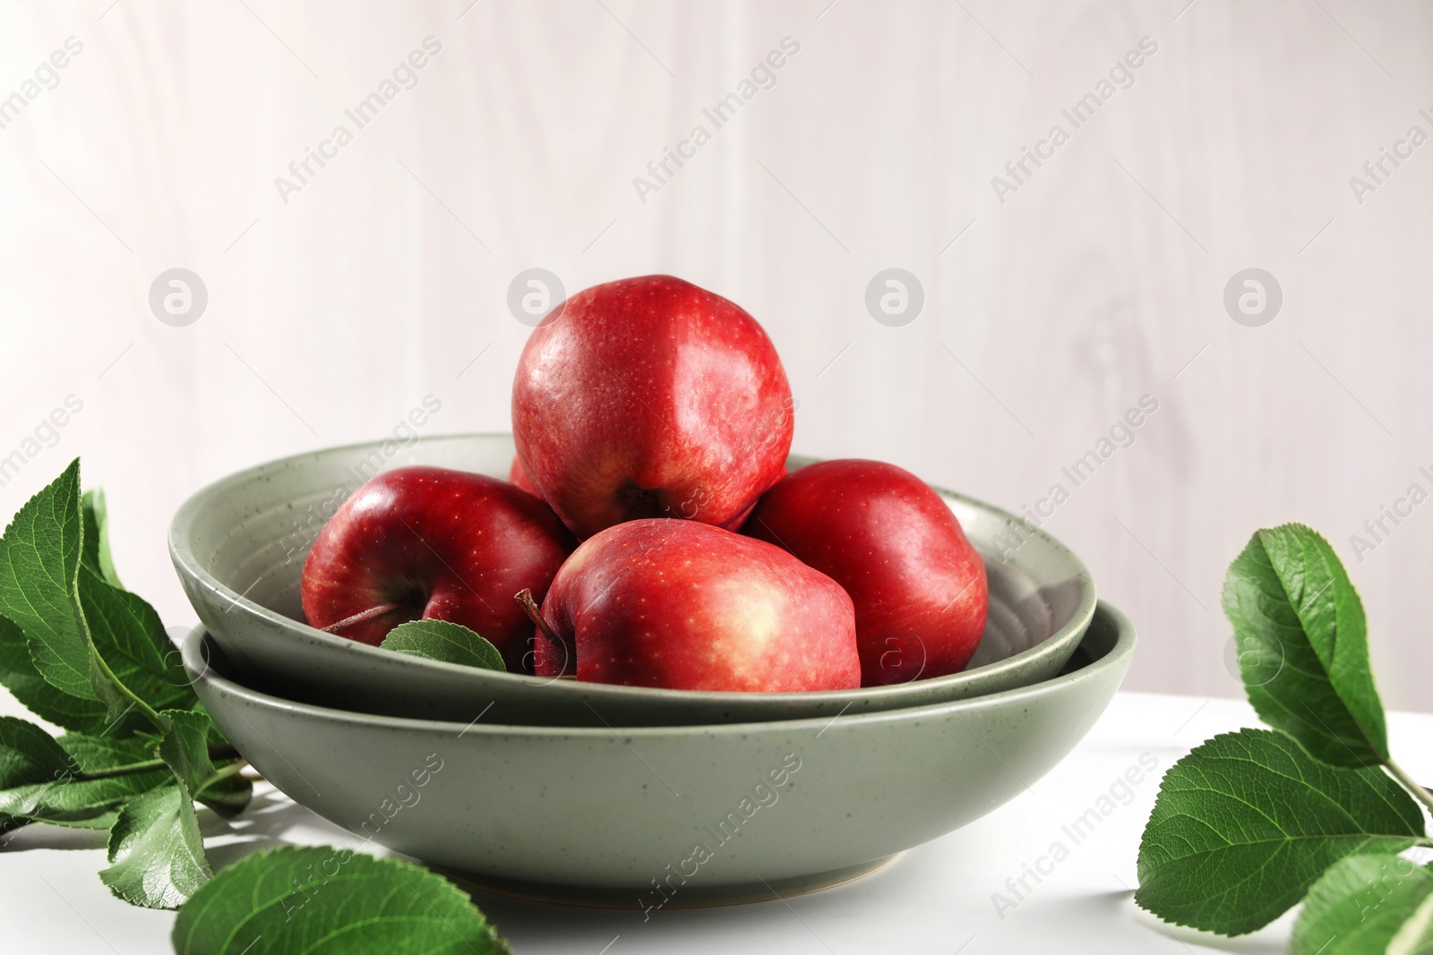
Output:
<svg viewBox="0 0 1433 955">
<path fill-rule="evenodd" d="M 97 700 L 90 646 L 75 601 L 83 537 L 80 461 L 32 497 L 0 537 L 0 614 L 20 626 L 40 676 Z"/>
</svg>

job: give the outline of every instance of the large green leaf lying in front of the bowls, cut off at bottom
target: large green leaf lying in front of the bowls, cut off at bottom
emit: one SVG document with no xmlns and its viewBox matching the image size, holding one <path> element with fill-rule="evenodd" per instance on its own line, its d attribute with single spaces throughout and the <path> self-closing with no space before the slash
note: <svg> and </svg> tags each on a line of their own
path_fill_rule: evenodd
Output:
<svg viewBox="0 0 1433 955">
<path fill-rule="evenodd" d="M 257 852 L 182 909 L 179 955 L 510 955 L 471 899 L 427 869 L 331 846 Z"/>
</svg>

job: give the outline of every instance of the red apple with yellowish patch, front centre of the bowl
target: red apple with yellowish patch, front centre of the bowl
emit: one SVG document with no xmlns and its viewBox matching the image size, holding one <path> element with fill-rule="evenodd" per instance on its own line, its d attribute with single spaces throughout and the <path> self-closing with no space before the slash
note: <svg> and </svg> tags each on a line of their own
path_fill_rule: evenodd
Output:
<svg viewBox="0 0 1433 955">
<path fill-rule="evenodd" d="M 590 537 L 557 571 L 540 620 L 539 676 L 674 690 L 861 683 L 840 584 L 780 547 L 696 521 L 638 520 Z"/>
</svg>

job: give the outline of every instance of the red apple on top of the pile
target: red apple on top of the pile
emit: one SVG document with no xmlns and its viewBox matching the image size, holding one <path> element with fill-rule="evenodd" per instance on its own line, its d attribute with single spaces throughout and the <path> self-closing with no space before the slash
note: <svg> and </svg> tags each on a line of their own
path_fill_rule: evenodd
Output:
<svg viewBox="0 0 1433 955">
<path fill-rule="evenodd" d="M 542 498 L 579 538 L 641 517 L 739 527 L 791 448 L 791 388 L 761 325 L 671 275 L 560 308 L 513 379 L 517 457 Z"/>
</svg>

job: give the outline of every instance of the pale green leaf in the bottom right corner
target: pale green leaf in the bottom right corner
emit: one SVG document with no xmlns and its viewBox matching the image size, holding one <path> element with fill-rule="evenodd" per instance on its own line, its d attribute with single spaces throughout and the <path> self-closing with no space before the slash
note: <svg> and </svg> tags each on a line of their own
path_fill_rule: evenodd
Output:
<svg viewBox="0 0 1433 955">
<path fill-rule="evenodd" d="M 1288 952 L 1387 952 L 1410 922 L 1412 936 L 1420 928 L 1426 932 L 1424 911 L 1433 912 L 1433 871 L 1390 853 L 1348 856 L 1336 862 L 1308 891 Z M 1419 926 L 1417 921 L 1424 924 Z"/>
</svg>

